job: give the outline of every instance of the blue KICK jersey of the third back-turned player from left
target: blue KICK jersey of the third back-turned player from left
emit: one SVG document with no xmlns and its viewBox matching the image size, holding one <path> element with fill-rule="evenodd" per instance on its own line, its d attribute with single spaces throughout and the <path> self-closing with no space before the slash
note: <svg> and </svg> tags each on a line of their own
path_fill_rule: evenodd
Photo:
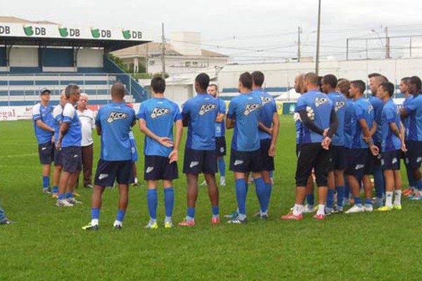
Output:
<svg viewBox="0 0 422 281">
<path fill-rule="evenodd" d="M 186 148 L 193 150 L 215 150 L 215 119 L 221 112 L 219 102 L 207 93 L 186 101 L 181 116 L 188 119 Z"/>
</svg>

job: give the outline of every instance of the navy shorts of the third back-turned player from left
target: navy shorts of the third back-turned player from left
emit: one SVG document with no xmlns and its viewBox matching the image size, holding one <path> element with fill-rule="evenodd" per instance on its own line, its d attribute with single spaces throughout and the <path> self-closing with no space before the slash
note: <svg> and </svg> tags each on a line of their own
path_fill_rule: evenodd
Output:
<svg viewBox="0 0 422 281">
<path fill-rule="evenodd" d="M 217 155 L 215 150 L 193 150 L 185 149 L 184 174 L 215 174 L 217 173 Z"/>
</svg>

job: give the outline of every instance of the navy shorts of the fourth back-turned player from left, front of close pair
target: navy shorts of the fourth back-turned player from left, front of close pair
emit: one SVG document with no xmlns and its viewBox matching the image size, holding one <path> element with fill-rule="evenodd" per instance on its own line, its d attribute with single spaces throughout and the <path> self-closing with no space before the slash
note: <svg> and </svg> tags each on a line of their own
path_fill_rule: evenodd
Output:
<svg viewBox="0 0 422 281">
<path fill-rule="evenodd" d="M 261 173 L 263 171 L 261 150 L 238 151 L 231 149 L 230 171 L 245 174 Z"/>
</svg>

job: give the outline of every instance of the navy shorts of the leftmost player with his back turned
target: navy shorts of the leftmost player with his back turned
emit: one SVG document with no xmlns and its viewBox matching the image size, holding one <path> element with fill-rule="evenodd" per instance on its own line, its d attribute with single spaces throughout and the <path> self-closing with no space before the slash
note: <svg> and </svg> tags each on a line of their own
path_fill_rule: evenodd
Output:
<svg viewBox="0 0 422 281">
<path fill-rule="evenodd" d="M 132 160 L 106 161 L 99 159 L 94 184 L 106 187 L 113 186 L 115 181 L 123 185 L 134 182 L 134 164 Z"/>
</svg>

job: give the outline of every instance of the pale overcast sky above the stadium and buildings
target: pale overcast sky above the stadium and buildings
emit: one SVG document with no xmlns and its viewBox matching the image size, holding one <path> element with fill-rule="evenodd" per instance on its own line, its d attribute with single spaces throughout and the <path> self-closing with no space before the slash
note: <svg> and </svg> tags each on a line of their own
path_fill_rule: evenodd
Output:
<svg viewBox="0 0 422 281">
<path fill-rule="evenodd" d="M 298 26 L 303 30 L 302 54 L 314 55 L 317 5 L 317 0 L 14 0 L 1 6 L 0 15 L 134 28 L 153 40 L 160 39 L 161 22 L 165 22 L 167 37 L 173 31 L 201 32 L 203 48 L 239 61 L 267 61 L 295 56 Z M 389 27 L 391 36 L 422 34 L 422 1 L 322 0 L 321 10 L 321 55 L 325 57 L 345 56 L 347 37 L 384 36 L 381 25 Z M 406 41 L 397 39 L 392 46 L 404 46 Z M 354 55 L 365 55 L 364 42 L 351 42 Z M 383 55 L 384 47 L 384 39 L 369 43 L 373 55 Z"/>
</svg>

